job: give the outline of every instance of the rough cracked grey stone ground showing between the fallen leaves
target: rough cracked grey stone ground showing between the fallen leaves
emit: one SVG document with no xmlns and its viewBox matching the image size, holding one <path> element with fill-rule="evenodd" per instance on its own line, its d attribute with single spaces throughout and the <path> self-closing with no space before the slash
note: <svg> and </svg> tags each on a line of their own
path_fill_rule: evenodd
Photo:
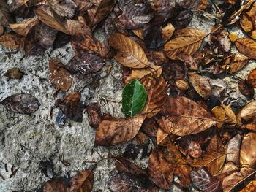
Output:
<svg viewBox="0 0 256 192">
<path fill-rule="evenodd" d="M 214 22 L 202 18 L 195 12 L 189 26 L 209 32 Z M 241 32 L 238 33 L 242 35 Z M 97 31 L 95 36 L 99 40 L 105 39 L 102 31 Z M 53 109 L 53 115 L 50 116 L 56 99 L 53 98 L 54 88 L 48 80 L 48 62 L 51 57 L 67 64 L 74 55 L 70 45 L 54 51 L 49 49 L 39 57 L 23 58 L 23 51 L 18 51 L 10 53 L 11 56 L 8 58 L 6 54 L 8 52 L 13 50 L 0 47 L 0 101 L 15 93 L 30 93 L 37 97 L 41 106 L 32 115 L 20 115 L 8 112 L 0 105 L 0 173 L 6 179 L 0 179 L 0 192 L 39 191 L 43 183 L 52 177 L 67 177 L 67 174 L 72 177 L 80 170 L 94 167 L 93 163 L 86 163 L 86 161 L 99 161 L 101 158 L 108 158 L 109 154 L 118 155 L 124 152 L 128 143 L 113 147 L 94 147 L 95 131 L 89 126 L 86 112 L 83 114 L 83 123 L 67 120 L 65 126 L 60 127 L 55 125 L 58 109 Z M 110 74 L 106 74 L 105 70 L 110 64 L 113 67 Z M 4 72 L 14 66 L 26 73 L 23 79 L 7 80 L 3 77 Z M 236 76 L 246 78 L 255 67 L 255 61 L 250 61 Z M 81 78 L 75 75 L 75 82 L 68 93 L 80 91 L 84 87 L 82 92 L 84 104 L 97 102 L 102 112 L 110 112 L 116 118 L 123 117 L 120 103 L 123 87 L 120 64 L 113 60 L 106 64 L 98 76 L 97 88 L 91 86 L 94 79 L 94 77 Z M 230 88 L 237 90 L 236 79 L 223 77 L 223 80 Z M 60 92 L 58 97 L 65 94 Z M 70 166 L 61 163 L 62 157 L 69 162 Z M 48 170 L 45 173 L 43 165 L 47 162 L 53 166 L 53 172 Z M 148 158 L 138 157 L 133 162 L 146 168 Z M 7 164 L 9 172 L 5 171 L 4 164 Z M 9 178 L 11 166 L 19 169 L 14 177 Z M 94 170 L 93 191 L 109 191 L 107 183 L 113 169 L 114 164 L 110 160 L 103 160 L 97 164 Z M 178 189 L 173 187 L 170 191 L 178 191 Z"/>
</svg>

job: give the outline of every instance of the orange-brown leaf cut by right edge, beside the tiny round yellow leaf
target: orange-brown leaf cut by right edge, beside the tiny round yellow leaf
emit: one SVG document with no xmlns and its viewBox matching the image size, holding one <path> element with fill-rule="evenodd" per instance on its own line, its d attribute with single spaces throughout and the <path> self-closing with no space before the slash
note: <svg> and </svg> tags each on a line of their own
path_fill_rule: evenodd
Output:
<svg viewBox="0 0 256 192">
<path fill-rule="evenodd" d="M 256 42 L 247 37 L 238 38 L 235 42 L 238 51 L 249 58 L 256 59 Z"/>
</svg>

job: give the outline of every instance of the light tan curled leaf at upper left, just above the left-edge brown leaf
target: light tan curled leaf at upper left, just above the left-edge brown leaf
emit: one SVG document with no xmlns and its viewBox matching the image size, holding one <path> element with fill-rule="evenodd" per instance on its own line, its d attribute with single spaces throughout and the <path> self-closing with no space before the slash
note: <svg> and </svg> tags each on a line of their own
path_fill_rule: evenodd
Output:
<svg viewBox="0 0 256 192">
<path fill-rule="evenodd" d="M 16 34 L 26 37 L 26 35 L 29 33 L 29 30 L 33 26 L 37 25 L 37 23 L 39 23 L 37 18 L 31 18 L 29 20 L 21 21 L 20 23 L 12 23 L 10 24 L 10 28 L 12 31 L 15 31 Z"/>
</svg>

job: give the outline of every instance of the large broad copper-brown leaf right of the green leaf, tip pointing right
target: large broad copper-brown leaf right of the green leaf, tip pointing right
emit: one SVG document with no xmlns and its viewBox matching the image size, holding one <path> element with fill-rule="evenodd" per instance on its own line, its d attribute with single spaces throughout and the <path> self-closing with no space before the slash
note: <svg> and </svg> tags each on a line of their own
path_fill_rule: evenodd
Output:
<svg viewBox="0 0 256 192">
<path fill-rule="evenodd" d="M 197 134 L 217 123 L 210 112 L 183 96 L 167 97 L 161 114 L 167 116 L 172 133 L 178 136 Z"/>
</svg>

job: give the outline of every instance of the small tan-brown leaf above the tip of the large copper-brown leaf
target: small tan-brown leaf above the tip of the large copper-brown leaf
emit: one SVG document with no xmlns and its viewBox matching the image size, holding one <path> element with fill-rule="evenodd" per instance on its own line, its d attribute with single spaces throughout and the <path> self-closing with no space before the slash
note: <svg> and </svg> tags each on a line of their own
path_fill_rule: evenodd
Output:
<svg viewBox="0 0 256 192">
<path fill-rule="evenodd" d="M 208 97 L 211 96 L 211 85 L 207 77 L 196 73 L 189 73 L 189 82 L 192 83 L 195 91 L 197 91 L 203 99 L 208 99 Z"/>
</svg>

